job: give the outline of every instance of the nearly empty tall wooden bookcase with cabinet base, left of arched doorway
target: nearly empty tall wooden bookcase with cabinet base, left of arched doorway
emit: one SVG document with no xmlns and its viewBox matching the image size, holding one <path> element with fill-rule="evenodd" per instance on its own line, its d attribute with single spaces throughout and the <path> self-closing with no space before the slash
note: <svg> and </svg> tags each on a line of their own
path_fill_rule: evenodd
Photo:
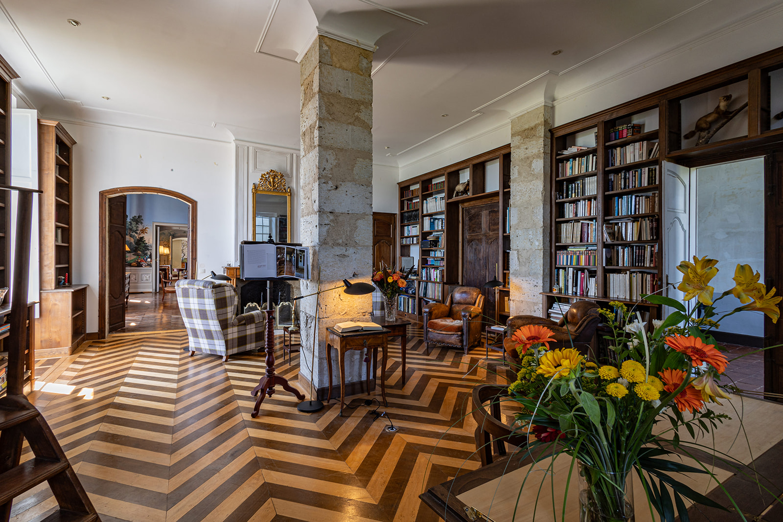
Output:
<svg viewBox="0 0 783 522">
<path fill-rule="evenodd" d="M 87 285 L 73 282 L 73 147 L 57 121 L 38 120 L 41 355 L 70 355 L 86 337 Z"/>
</svg>

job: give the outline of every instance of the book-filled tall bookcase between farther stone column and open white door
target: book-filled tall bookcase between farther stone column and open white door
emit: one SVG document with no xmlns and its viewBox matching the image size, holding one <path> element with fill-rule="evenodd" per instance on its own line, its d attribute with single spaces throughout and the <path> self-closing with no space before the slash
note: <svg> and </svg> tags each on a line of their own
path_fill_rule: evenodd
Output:
<svg viewBox="0 0 783 522">
<path fill-rule="evenodd" d="M 544 304 L 637 303 L 660 289 L 659 106 L 553 136 L 551 264 Z M 655 319 L 658 306 L 644 301 Z"/>
</svg>

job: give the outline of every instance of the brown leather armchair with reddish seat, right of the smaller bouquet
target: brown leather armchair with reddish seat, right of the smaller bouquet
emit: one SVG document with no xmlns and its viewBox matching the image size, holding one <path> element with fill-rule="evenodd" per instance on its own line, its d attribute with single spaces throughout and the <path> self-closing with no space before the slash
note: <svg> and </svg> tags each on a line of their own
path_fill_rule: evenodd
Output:
<svg viewBox="0 0 783 522">
<path fill-rule="evenodd" d="M 484 296 L 473 286 L 457 286 L 446 303 L 424 306 L 424 346 L 446 344 L 467 351 L 482 340 Z"/>
</svg>

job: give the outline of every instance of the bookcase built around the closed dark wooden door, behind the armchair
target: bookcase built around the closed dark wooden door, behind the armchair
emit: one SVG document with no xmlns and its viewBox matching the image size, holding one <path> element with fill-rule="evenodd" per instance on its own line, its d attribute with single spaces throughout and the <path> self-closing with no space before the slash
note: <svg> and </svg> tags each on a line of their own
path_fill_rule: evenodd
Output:
<svg viewBox="0 0 783 522">
<path fill-rule="evenodd" d="M 420 321 L 424 304 L 446 300 L 451 287 L 462 283 L 460 203 L 493 198 L 497 200 L 500 215 L 496 232 L 497 277 L 504 287 L 489 291 L 507 305 L 510 180 L 511 146 L 503 146 L 399 182 L 399 265 L 402 258 L 412 257 L 417 268 L 416 277 L 411 278 L 406 293 L 399 297 L 399 315 Z M 464 190 L 455 195 L 457 185 L 465 182 Z M 496 315 L 499 312 L 500 307 L 496 306 Z"/>
</svg>

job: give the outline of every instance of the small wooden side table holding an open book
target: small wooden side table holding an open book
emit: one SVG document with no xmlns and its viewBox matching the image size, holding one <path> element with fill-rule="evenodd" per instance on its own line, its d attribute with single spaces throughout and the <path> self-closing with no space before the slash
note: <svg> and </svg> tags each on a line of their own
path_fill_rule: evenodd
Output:
<svg viewBox="0 0 783 522">
<path fill-rule="evenodd" d="M 337 332 L 334 328 L 327 328 L 327 369 L 329 371 L 329 391 L 327 402 L 332 400 L 332 348 L 337 348 L 337 362 L 340 366 L 340 416 L 345 405 L 345 352 L 349 350 L 373 351 L 373 360 L 377 361 L 377 350 L 380 346 L 383 350 L 384 362 L 381 363 L 381 398 L 386 402 L 386 362 L 388 359 L 387 336 L 391 333 L 388 329 L 359 332 Z M 369 355 L 369 353 L 368 353 Z M 377 368 L 373 368 L 373 379 Z M 367 361 L 367 394 L 370 394 L 370 361 Z"/>
</svg>

